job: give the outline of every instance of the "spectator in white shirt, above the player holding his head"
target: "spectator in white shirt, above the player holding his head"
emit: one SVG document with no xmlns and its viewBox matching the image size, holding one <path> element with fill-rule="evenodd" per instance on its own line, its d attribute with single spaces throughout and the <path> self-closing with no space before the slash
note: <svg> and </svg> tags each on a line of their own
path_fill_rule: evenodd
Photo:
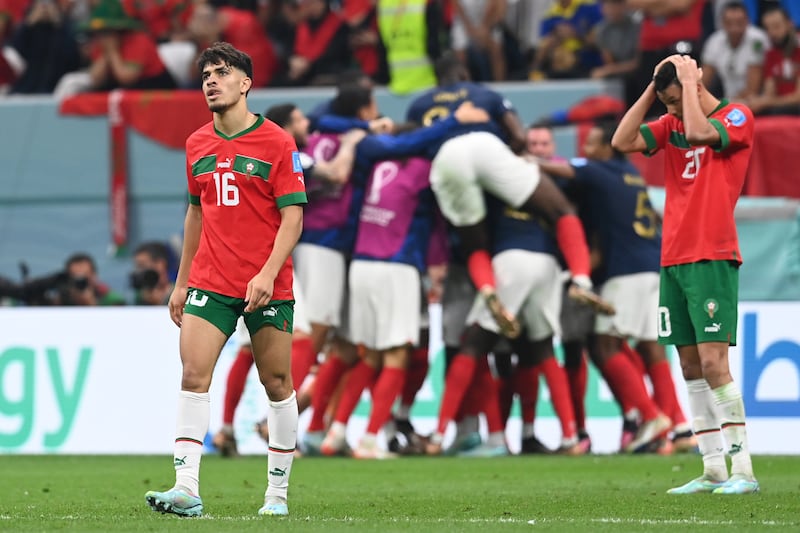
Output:
<svg viewBox="0 0 800 533">
<path fill-rule="evenodd" d="M 728 2 L 721 13 L 722 29 L 703 47 L 703 83 L 719 83 L 725 98 L 748 98 L 761 90 L 767 34 L 750 24 L 743 2 Z"/>
</svg>

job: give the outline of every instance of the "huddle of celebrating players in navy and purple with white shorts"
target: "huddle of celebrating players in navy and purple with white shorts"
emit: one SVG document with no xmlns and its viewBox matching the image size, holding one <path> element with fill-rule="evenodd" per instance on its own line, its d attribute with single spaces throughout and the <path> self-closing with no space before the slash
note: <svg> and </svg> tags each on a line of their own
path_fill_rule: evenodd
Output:
<svg viewBox="0 0 800 533">
<path fill-rule="evenodd" d="M 299 398 L 301 410 L 312 407 L 304 451 L 439 454 L 448 425 L 458 422 L 447 451 L 505 455 L 516 394 L 522 453 L 547 453 L 533 431 L 542 375 L 562 428 L 553 451 L 587 453 L 584 352 L 625 415 L 622 451 L 695 448 L 657 343 L 659 220 L 644 181 L 611 148 L 613 128 L 590 132 L 588 159 L 557 161 L 546 143 L 536 145 L 549 138 L 552 147 L 548 129 L 526 132 L 509 102 L 467 81 L 453 58 L 438 63 L 437 75 L 439 86 L 411 104 L 404 126 L 380 117 L 359 79 L 311 120 L 292 104 L 265 113 L 301 150 L 309 195 L 293 254 L 298 390 L 317 354 L 326 355 Z M 587 197 L 591 203 L 581 200 Z M 602 284 L 600 297 L 592 278 Z M 428 373 L 430 301 L 443 305 L 448 370 L 436 432 L 422 438 L 409 412 Z M 563 367 L 554 336 L 577 345 Z M 245 333 L 214 440 L 224 454 L 236 453 L 234 410 L 252 361 Z M 366 434 L 350 450 L 347 422 L 365 389 L 372 399 Z M 488 429 L 483 443 L 479 414 Z M 268 438 L 266 427 L 258 429 Z M 376 441 L 381 429 L 388 446 Z"/>
</svg>

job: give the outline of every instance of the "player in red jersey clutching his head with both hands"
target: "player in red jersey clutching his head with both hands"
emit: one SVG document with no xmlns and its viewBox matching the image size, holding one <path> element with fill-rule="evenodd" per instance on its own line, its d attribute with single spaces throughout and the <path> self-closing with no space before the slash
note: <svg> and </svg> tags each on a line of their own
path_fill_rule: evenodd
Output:
<svg viewBox="0 0 800 533">
<path fill-rule="evenodd" d="M 662 344 L 678 348 L 703 454 L 703 475 L 668 492 L 750 494 L 759 485 L 728 346 L 736 343 L 742 262 L 733 210 L 753 149 L 753 114 L 719 101 L 701 80 L 689 56 L 666 58 L 622 118 L 612 144 L 623 152 L 665 153 L 658 334 Z M 656 97 L 667 114 L 640 125 Z"/>
</svg>

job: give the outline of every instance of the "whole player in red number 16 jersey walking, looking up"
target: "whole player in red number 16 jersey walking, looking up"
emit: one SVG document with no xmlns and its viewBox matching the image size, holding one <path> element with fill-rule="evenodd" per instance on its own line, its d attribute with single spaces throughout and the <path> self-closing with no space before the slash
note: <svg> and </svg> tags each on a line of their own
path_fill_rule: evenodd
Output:
<svg viewBox="0 0 800 533">
<path fill-rule="evenodd" d="M 306 203 L 294 139 L 247 109 L 250 57 L 216 43 L 198 59 L 213 120 L 186 141 L 189 208 L 172 320 L 181 328 L 183 364 L 175 439 L 175 485 L 149 491 L 155 511 L 203 512 L 199 474 L 208 432 L 208 389 L 223 345 L 240 315 L 269 397 L 268 486 L 261 515 L 286 515 L 297 435 L 290 353 L 294 301 L 291 252 Z"/>
</svg>

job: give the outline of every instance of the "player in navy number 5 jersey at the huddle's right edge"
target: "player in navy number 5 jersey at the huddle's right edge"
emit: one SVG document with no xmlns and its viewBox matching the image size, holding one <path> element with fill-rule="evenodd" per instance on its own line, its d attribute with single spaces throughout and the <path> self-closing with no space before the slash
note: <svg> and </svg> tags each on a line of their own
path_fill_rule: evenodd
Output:
<svg viewBox="0 0 800 533">
<path fill-rule="evenodd" d="M 613 135 L 613 125 L 596 126 L 584 145 L 586 159 L 540 164 L 545 172 L 583 184 L 593 199 L 590 218 L 599 237 L 606 277 L 600 294 L 617 310 L 613 317 L 597 316 L 593 355 L 621 403 L 632 405 L 642 417 L 642 425 L 626 451 L 642 449 L 670 429 L 683 446 L 691 435 L 685 433 L 689 428 L 679 412 L 664 347 L 658 344 L 659 218 L 650 204 L 644 179 L 611 146 Z M 648 395 L 625 354 L 626 339 L 636 341 L 658 404 Z"/>
</svg>

